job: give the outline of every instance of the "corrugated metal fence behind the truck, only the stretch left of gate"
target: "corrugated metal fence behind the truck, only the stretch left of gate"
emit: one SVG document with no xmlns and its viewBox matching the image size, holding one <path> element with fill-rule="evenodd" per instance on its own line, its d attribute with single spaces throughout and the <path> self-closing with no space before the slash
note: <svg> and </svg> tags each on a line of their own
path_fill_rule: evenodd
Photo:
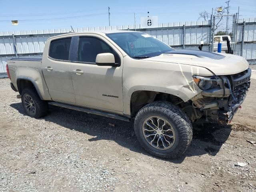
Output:
<svg viewBox="0 0 256 192">
<path fill-rule="evenodd" d="M 183 48 L 185 46 L 187 49 L 197 49 L 196 45 L 200 44 L 201 40 L 204 40 L 207 44 L 210 43 L 210 22 L 208 21 L 162 23 L 159 24 L 158 28 L 147 29 L 140 29 L 140 25 L 138 25 L 136 29 L 151 34 L 175 48 Z M 75 28 L 74 30 L 75 32 L 135 30 L 135 26 Z M 20 58 L 37 57 L 42 55 L 44 44 L 50 36 L 69 32 L 71 32 L 71 28 L 0 32 L 0 72 L 6 72 L 7 60 L 16 57 L 14 44 L 16 44 L 17 54 Z M 204 48 L 209 50 L 208 46 Z"/>
</svg>

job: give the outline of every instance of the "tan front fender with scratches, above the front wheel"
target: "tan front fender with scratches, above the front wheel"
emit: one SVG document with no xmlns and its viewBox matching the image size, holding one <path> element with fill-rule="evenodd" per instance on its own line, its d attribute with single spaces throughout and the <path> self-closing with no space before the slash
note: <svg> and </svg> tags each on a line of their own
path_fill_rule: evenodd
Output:
<svg viewBox="0 0 256 192">
<path fill-rule="evenodd" d="M 124 114 L 127 115 L 131 113 L 130 100 L 135 91 L 172 94 L 187 102 L 202 91 L 192 76 L 214 75 L 208 69 L 198 66 L 145 60 L 136 62 L 130 63 L 129 66 L 126 63 L 123 72 Z"/>
</svg>

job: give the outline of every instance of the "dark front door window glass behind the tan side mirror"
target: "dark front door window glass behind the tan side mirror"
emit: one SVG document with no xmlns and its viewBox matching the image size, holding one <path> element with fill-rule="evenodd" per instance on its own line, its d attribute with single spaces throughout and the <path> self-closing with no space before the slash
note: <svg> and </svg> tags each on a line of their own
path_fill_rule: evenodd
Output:
<svg viewBox="0 0 256 192">
<path fill-rule="evenodd" d="M 81 62 L 96 62 L 96 56 L 100 53 L 112 53 L 115 62 L 120 63 L 118 54 L 104 41 L 95 37 L 80 37 L 78 42 L 77 60 Z"/>
</svg>

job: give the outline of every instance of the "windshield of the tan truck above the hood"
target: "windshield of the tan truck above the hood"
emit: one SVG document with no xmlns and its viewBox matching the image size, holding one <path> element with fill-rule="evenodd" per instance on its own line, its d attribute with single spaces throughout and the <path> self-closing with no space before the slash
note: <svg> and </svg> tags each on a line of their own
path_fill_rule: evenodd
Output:
<svg viewBox="0 0 256 192">
<path fill-rule="evenodd" d="M 141 32 L 106 34 L 124 52 L 133 58 L 148 58 L 174 50 L 160 40 Z"/>
</svg>

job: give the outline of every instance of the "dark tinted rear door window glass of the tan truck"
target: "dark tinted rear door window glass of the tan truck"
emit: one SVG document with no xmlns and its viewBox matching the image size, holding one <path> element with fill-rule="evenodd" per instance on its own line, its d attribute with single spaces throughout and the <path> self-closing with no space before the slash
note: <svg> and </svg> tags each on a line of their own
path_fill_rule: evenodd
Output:
<svg viewBox="0 0 256 192">
<path fill-rule="evenodd" d="M 69 60 L 71 38 L 53 40 L 50 44 L 49 56 L 59 60 Z"/>
</svg>

